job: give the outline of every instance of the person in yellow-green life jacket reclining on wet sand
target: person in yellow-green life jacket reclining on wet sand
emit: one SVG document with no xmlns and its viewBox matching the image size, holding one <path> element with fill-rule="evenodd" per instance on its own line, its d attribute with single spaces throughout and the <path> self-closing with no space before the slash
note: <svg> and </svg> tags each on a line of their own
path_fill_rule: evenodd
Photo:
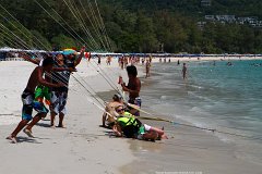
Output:
<svg viewBox="0 0 262 174">
<path fill-rule="evenodd" d="M 168 139 L 163 129 L 142 124 L 134 115 L 124 112 L 123 107 L 116 108 L 116 111 L 120 115 L 117 119 L 117 124 L 112 126 L 116 136 L 152 141 Z"/>
</svg>

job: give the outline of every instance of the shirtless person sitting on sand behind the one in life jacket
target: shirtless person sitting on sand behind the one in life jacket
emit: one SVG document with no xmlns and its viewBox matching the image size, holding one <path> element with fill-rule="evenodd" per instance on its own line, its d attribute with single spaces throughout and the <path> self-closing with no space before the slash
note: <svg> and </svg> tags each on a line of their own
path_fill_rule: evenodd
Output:
<svg viewBox="0 0 262 174">
<path fill-rule="evenodd" d="M 108 102 L 105 112 L 102 117 L 102 126 L 111 128 L 116 123 L 116 116 L 118 113 L 116 112 L 117 107 L 123 107 L 123 99 L 119 94 L 114 95 L 112 101 Z"/>
</svg>

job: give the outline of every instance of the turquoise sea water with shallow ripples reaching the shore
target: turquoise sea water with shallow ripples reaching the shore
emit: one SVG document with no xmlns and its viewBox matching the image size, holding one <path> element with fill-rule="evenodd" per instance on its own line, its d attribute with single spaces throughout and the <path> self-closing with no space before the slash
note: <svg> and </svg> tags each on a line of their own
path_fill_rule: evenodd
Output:
<svg viewBox="0 0 262 174">
<path fill-rule="evenodd" d="M 231 63 L 187 62 L 187 79 L 177 62 L 153 64 L 152 76 L 143 79 L 143 105 L 191 125 L 247 136 L 215 134 L 224 141 L 261 145 L 262 61 Z"/>
</svg>

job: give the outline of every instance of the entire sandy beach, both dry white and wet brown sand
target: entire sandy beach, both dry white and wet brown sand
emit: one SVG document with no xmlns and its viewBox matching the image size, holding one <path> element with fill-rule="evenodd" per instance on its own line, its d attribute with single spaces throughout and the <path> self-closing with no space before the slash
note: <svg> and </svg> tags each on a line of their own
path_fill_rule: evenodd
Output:
<svg viewBox="0 0 262 174">
<path fill-rule="evenodd" d="M 182 61 L 190 60 L 192 61 Z M 154 62 L 158 62 L 158 59 L 154 59 Z M 94 99 L 72 77 L 64 121 L 67 128 L 50 128 L 47 116 L 33 128 L 36 138 L 28 138 L 20 133 L 20 142 L 10 144 L 4 138 L 21 120 L 21 94 L 34 67 L 35 65 L 23 61 L 0 62 L 1 173 L 261 173 L 260 161 L 252 161 L 248 157 L 239 158 L 238 153 L 241 151 L 234 150 L 235 144 L 222 141 L 204 130 L 146 121 L 152 125 L 165 126 L 170 138 L 150 142 L 110 137 L 109 129 L 99 127 L 103 111 L 88 101 Z M 117 60 L 114 60 L 111 66 L 107 66 L 103 60 L 100 67 L 116 85 L 119 75 L 128 80 L 126 71 L 118 67 Z M 100 95 L 109 100 L 114 91 L 99 75 L 102 70 L 83 60 L 74 76 L 83 78 L 96 92 L 108 91 L 108 95 Z M 143 82 L 144 70 L 141 66 L 139 70 Z M 81 82 L 83 83 L 82 79 Z M 143 84 L 142 97 L 145 86 Z M 147 110 L 146 102 L 143 109 Z"/>
</svg>

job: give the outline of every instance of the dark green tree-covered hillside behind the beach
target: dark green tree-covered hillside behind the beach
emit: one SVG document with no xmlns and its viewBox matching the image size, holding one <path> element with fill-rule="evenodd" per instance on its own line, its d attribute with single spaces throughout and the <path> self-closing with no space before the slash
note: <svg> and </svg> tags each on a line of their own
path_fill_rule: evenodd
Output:
<svg viewBox="0 0 262 174">
<path fill-rule="evenodd" d="M 262 21 L 260 0 L 212 0 L 210 7 L 201 5 L 201 0 L 0 0 L 0 46 L 50 50 L 85 44 L 91 51 L 262 52 L 262 27 L 205 20 L 205 15 L 236 15 Z M 198 22 L 205 24 L 200 27 Z"/>
</svg>

